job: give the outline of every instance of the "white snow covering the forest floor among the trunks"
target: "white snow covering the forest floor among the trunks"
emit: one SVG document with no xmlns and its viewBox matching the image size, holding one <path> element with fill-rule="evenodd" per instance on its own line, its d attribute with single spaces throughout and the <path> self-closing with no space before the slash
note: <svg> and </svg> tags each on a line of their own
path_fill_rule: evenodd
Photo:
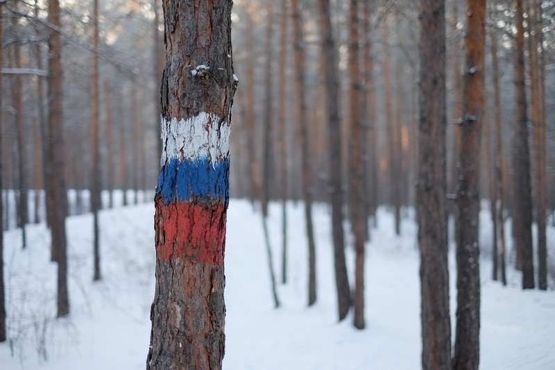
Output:
<svg viewBox="0 0 555 370">
<path fill-rule="evenodd" d="M 268 219 L 275 269 L 280 276 L 279 205 Z M 92 283 L 92 217 L 69 217 L 71 314 L 56 317 L 56 264 L 50 262 L 44 224 L 5 233 L 5 274 L 10 341 L 0 344 L 0 369 L 144 369 L 154 294 L 151 203 L 101 212 L 103 280 Z M 307 246 L 300 204 L 289 204 L 289 281 L 279 286 L 282 305 L 273 308 L 261 219 L 247 201 L 232 200 L 225 251 L 227 370 L 420 369 L 420 283 L 416 225 L 379 211 L 366 257 L 366 330 L 352 317 L 338 323 L 325 205 L 314 210 L 318 302 L 307 308 Z M 483 223 L 488 223 L 485 215 Z M 486 226 L 482 230 L 489 230 Z M 490 244 L 485 231 L 484 249 Z M 549 229 L 553 246 L 555 230 Z M 550 251 L 554 253 L 555 251 Z M 490 280 L 482 261 L 481 369 L 555 369 L 555 292 L 520 289 L 509 269 L 509 286 Z M 350 271 L 354 262 L 348 250 Z M 450 255 L 452 322 L 456 291 Z M 553 289 L 550 281 L 550 288 Z"/>
</svg>

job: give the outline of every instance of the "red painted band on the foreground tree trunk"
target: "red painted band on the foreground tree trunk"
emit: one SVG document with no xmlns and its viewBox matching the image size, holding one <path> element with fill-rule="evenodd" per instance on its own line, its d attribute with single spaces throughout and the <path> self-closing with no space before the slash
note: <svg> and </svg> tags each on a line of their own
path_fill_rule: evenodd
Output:
<svg viewBox="0 0 555 370">
<path fill-rule="evenodd" d="M 156 196 L 155 206 L 158 260 L 171 261 L 186 256 L 202 263 L 223 262 L 225 202 L 165 204 Z"/>
</svg>

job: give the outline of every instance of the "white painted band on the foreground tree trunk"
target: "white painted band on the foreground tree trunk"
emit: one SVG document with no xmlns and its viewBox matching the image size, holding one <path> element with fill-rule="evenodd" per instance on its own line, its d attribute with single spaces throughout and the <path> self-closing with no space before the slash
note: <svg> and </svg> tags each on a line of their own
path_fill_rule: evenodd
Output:
<svg viewBox="0 0 555 370">
<path fill-rule="evenodd" d="M 200 112 L 187 119 L 162 118 L 162 159 L 165 165 L 171 158 L 178 160 L 209 157 L 212 162 L 225 160 L 230 154 L 231 124 L 217 115 Z"/>
</svg>

